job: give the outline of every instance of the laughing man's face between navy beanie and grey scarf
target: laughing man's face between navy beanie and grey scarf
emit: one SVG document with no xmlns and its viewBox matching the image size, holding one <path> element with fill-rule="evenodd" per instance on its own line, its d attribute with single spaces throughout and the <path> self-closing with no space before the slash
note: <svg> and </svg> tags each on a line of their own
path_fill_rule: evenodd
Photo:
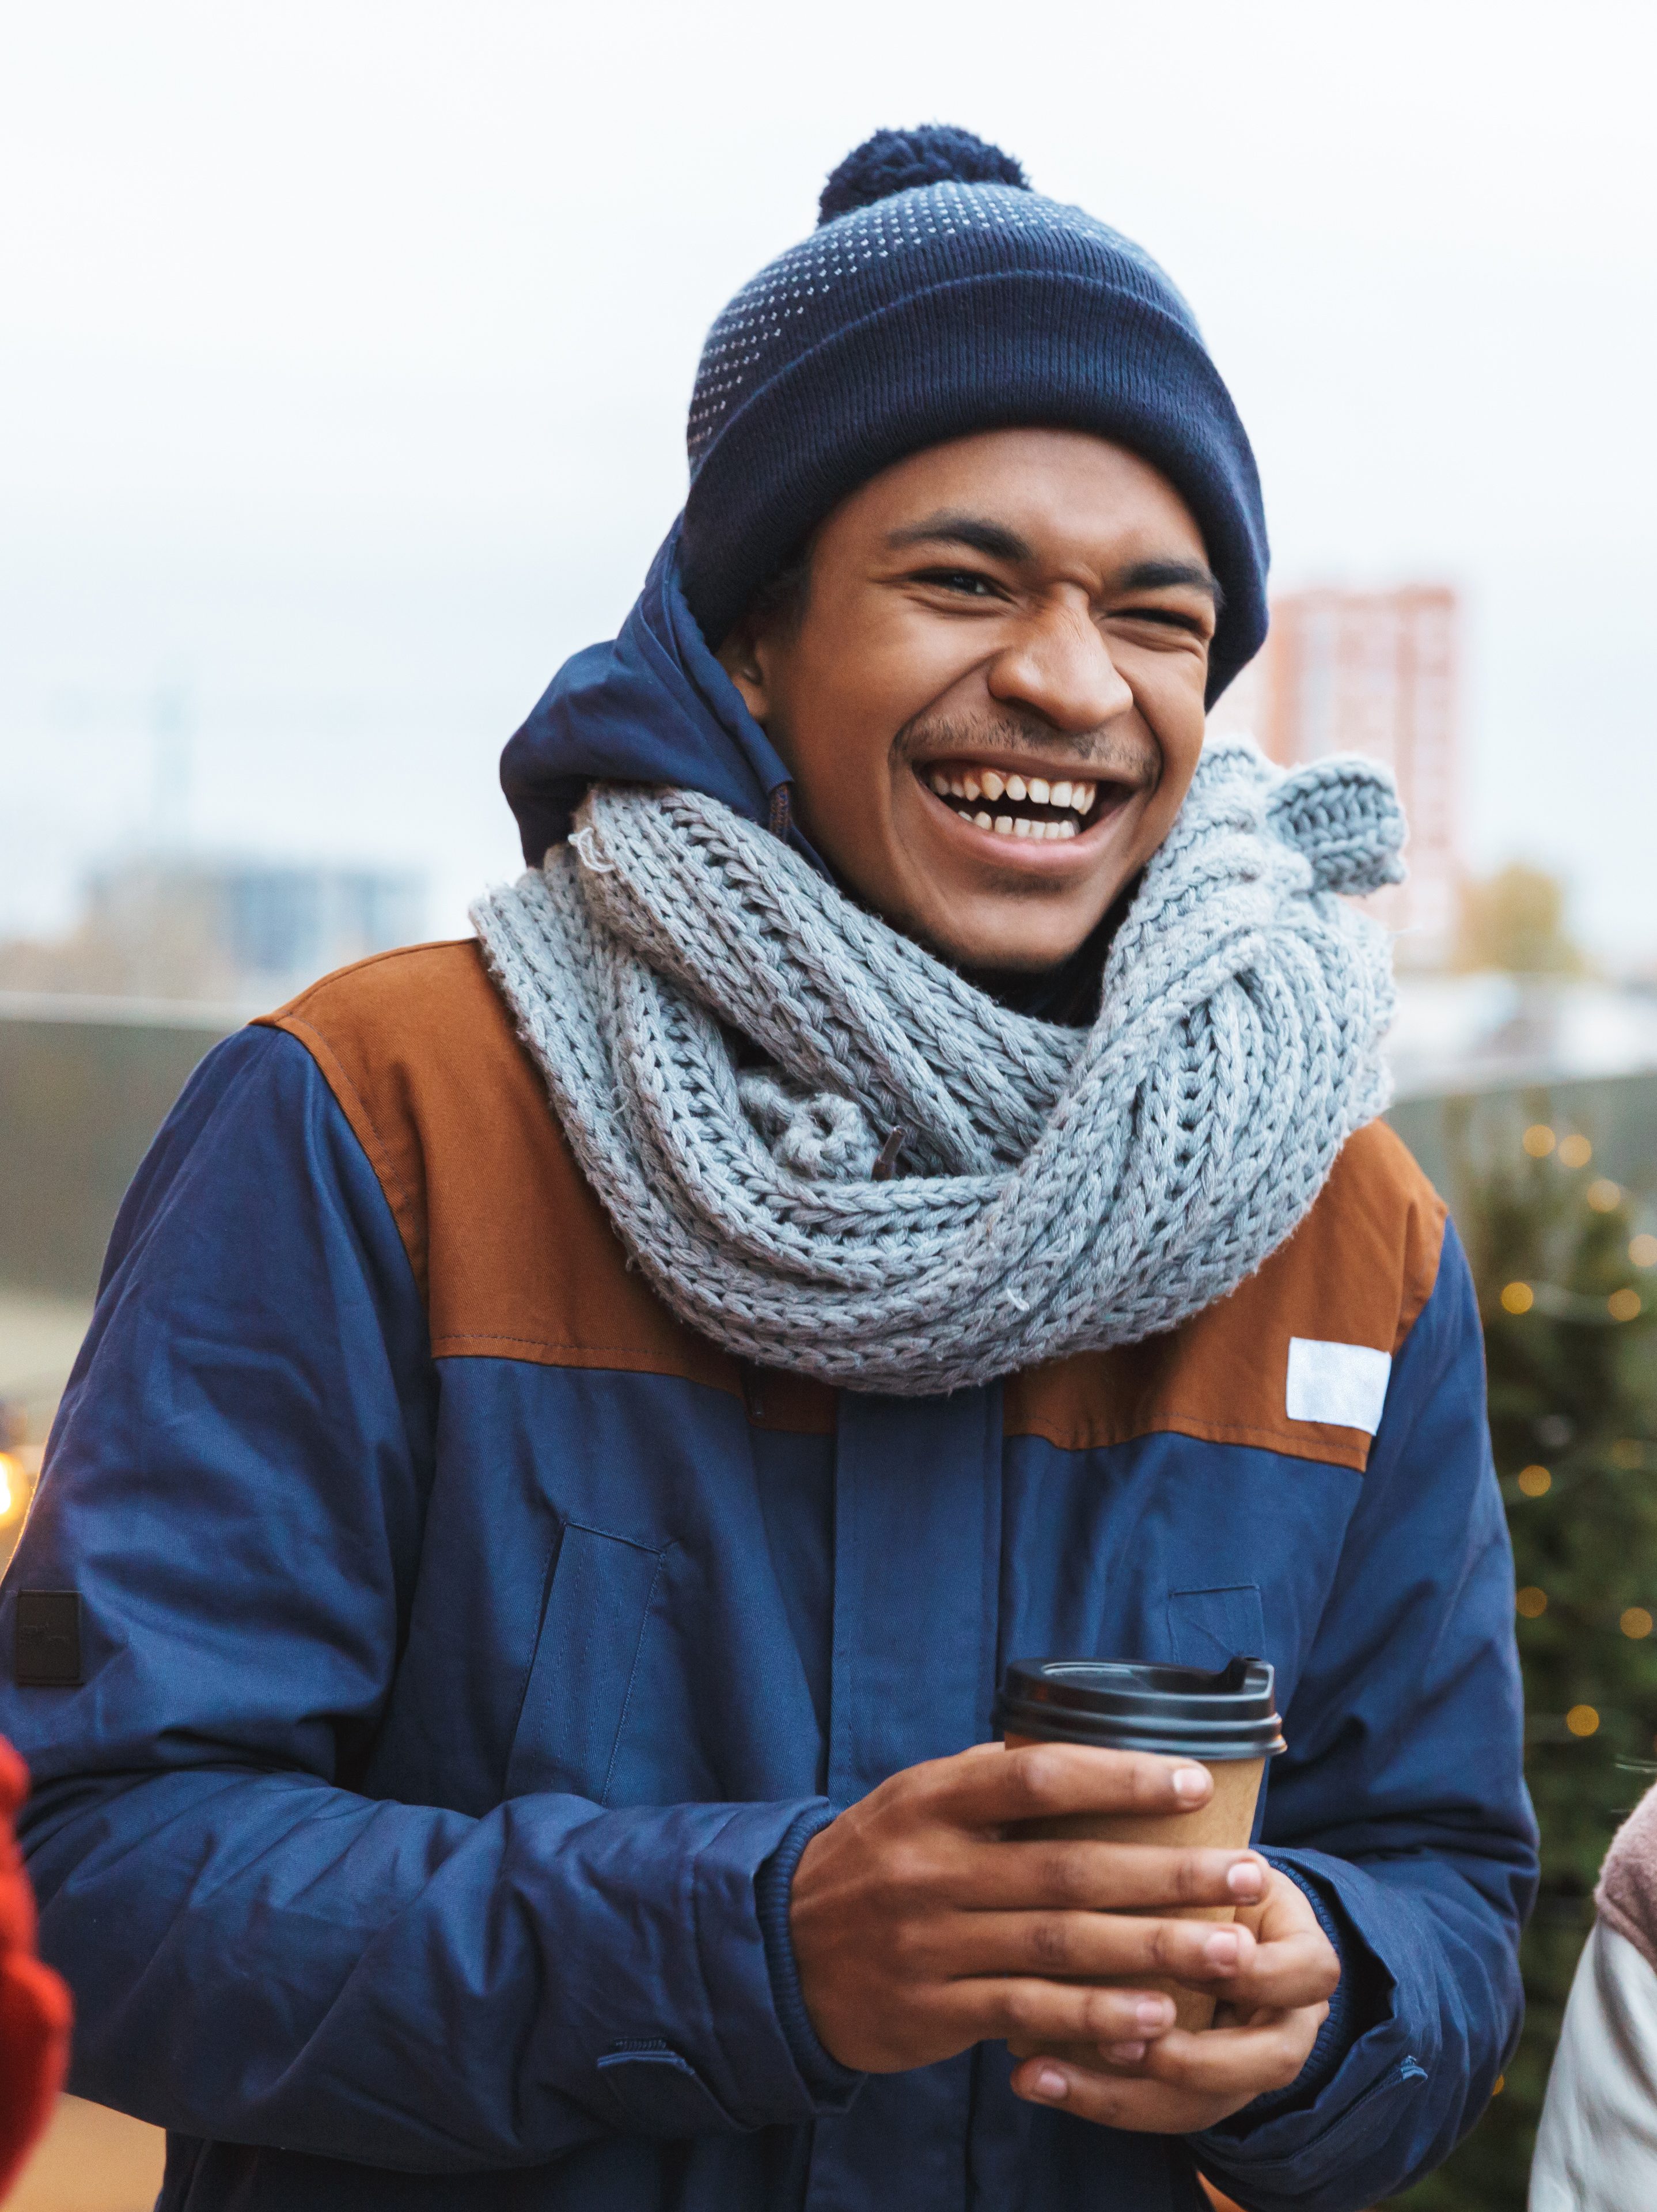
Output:
<svg viewBox="0 0 1657 2212">
<path fill-rule="evenodd" d="M 914 453 L 819 529 L 803 608 L 721 648 L 801 830 L 971 969 L 1073 953 L 1168 834 L 1217 586 L 1184 500 L 1104 438 Z"/>
</svg>

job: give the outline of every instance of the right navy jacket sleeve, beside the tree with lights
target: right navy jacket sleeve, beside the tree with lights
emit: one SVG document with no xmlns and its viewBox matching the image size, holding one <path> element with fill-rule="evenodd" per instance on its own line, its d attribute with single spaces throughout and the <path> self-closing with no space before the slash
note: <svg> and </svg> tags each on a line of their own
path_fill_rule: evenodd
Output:
<svg viewBox="0 0 1657 2212">
<path fill-rule="evenodd" d="M 1259 2212 L 1358 2212 L 1445 2159 L 1489 2101 L 1535 1893 L 1513 1559 L 1453 1228 L 1285 1734 L 1263 1849 L 1310 1893 L 1343 1991 L 1290 2093 L 1190 2141 Z"/>
</svg>

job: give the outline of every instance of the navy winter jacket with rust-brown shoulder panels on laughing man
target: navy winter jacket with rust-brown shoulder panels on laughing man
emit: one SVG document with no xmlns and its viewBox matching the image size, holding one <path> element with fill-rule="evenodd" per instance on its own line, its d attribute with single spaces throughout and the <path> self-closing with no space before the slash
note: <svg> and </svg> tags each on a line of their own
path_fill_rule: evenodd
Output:
<svg viewBox="0 0 1657 2212">
<path fill-rule="evenodd" d="M 653 584 L 659 719 L 715 745 L 741 710 Z M 518 752 L 553 807 L 560 712 Z M 1292 1396 L 1296 1338 L 1392 1358 L 1374 1436 Z M 77 1666 L 0 1690 L 42 1949 L 73 2086 L 173 2130 L 164 2208 L 1197 2212 L 1199 2161 L 1356 2212 L 1515 2037 L 1535 1836 L 1478 1314 L 1385 1128 L 1166 1338 L 834 1394 L 628 1270 L 473 947 L 385 956 L 219 1046 L 161 1130 L 0 1650 L 38 1590 L 80 1597 Z M 805 1840 L 1057 1652 L 1279 1670 L 1263 1845 L 1343 1984 L 1301 2079 L 1195 2139 L 1022 2104 L 1000 2046 L 863 2079 L 801 2002 Z"/>
</svg>

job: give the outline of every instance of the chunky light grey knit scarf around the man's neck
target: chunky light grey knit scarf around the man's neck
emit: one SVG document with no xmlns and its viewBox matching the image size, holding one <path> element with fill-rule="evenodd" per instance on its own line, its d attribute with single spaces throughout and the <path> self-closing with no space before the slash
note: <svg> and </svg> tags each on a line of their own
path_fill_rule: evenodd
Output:
<svg viewBox="0 0 1657 2212">
<path fill-rule="evenodd" d="M 1212 745 L 1088 1031 L 1011 1013 L 697 792 L 595 785 L 478 902 L 628 1252 L 761 1367 L 929 1396 L 1226 1296 L 1387 1102 L 1387 774 Z"/>
</svg>

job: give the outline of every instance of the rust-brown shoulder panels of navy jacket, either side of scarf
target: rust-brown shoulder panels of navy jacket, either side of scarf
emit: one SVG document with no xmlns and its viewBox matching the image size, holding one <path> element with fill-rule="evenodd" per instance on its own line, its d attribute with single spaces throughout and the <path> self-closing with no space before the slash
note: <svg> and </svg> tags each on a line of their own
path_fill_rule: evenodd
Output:
<svg viewBox="0 0 1657 2212">
<path fill-rule="evenodd" d="M 741 1389 L 761 1427 L 834 1427 L 830 1389 L 741 1369 L 628 1267 L 471 940 L 363 960 L 263 1020 L 305 1044 L 363 1144 L 427 1301 L 434 1358 L 686 1376 Z M 1290 1340 L 1398 1352 L 1442 1237 L 1442 1201 L 1376 1121 L 1228 1298 L 1142 1345 L 1011 1376 L 1007 1431 L 1066 1449 L 1179 1431 L 1363 1469 L 1363 1429 L 1290 1420 Z"/>
</svg>

